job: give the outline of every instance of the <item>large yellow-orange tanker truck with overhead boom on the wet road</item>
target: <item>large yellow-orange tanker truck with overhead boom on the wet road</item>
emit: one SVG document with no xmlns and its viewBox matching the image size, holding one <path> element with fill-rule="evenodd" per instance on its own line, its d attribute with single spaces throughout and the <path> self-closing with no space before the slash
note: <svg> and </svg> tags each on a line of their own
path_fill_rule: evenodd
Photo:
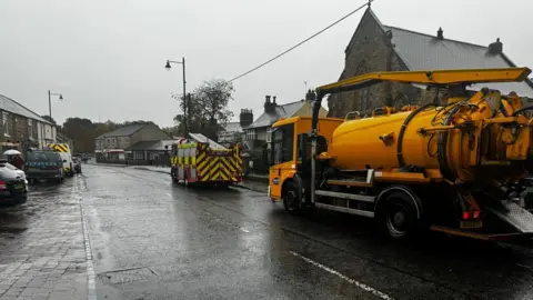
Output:
<svg viewBox="0 0 533 300">
<path fill-rule="evenodd" d="M 291 214 L 322 208 L 374 218 L 398 239 L 424 229 L 482 240 L 533 234 L 533 203 L 521 197 L 533 170 L 532 107 L 514 92 L 466 89 L 530 73 L 382 72 L 320 87 L 312 117 L 273 126 L 269 196 Z M 370 118 L 318 117 L 324 96 L 383 81 L 425 84 L 445 97 Z"/>
</svg>

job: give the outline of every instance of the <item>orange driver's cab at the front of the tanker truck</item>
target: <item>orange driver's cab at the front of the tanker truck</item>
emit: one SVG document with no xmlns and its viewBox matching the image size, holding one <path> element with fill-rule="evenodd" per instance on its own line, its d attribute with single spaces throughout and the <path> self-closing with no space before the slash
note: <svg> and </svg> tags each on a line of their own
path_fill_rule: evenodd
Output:
<svg viewBox="0 0 533 300">
<path fill-rule="evenodd" d="M 291 198 L 294 192 L 303 197 L 303 183 L 310 181 L 311 172 L 311 117 L 292 117 L 272 126 L 269 144 L 269 197 L 272 201 Z M 342 119 L 321 118 L 319 136 L 322 150 L 326 149 L 333 130 L 342 122 Z M 289 211 L 294 211 L 293 204 L 284 201 Z"/>
</svg>

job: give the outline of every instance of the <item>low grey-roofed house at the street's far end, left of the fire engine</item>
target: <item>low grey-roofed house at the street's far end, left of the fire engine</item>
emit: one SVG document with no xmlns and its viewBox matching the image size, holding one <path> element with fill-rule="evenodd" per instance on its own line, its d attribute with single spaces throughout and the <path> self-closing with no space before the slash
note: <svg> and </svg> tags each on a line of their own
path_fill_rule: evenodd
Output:
<svg viewBox="0 0 533 300">
<path fill-rule="evenodd" d="M 95 152 L 125 150 L 140 141 L 171 140 L 169 134 L 152 122 L 124 126 L 101 134 L 94 140 Z"/>
</svg>

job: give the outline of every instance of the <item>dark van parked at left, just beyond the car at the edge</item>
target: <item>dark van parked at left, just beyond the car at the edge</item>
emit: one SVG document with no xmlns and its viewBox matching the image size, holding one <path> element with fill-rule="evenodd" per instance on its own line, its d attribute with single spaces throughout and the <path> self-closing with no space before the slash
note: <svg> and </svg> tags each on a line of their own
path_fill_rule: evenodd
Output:
<svg viewBox="0 0 533 300">
<path fill-rule="evenodd" d="M 28 152 L 26 178 L 30 182 L 42 179 L 62 182 L 64 172 L 61 157 L 58 152 L 48 150 Z"/>
</svg>

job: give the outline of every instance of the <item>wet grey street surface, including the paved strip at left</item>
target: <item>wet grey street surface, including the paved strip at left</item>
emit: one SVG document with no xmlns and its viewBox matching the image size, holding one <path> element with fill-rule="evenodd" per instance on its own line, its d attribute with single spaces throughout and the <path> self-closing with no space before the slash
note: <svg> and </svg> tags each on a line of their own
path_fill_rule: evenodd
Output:
<svg viewBox="0 0 533 300">
<path fill-rule="evenodd" d="M 83 164 L 0 209 L 0 299 L 532 299 L 533 251 Z"/>
</svg>

